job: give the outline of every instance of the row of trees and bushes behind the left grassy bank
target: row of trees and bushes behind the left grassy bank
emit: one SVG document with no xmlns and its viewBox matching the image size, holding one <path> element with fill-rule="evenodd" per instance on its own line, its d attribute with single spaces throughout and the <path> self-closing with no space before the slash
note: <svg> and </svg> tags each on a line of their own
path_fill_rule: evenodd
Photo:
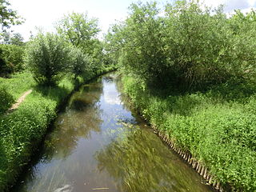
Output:
<svg viewBox="0 0 256 192">
<path fill-rule="evenodd" d="M 3 41 L 1 76 L 29 70 L 39 84 L 50 85 L 56 84 L 62 74 L 71 73 L 78 78 L 109 64 L 103 53 L 103 42 L 97 37 L 100 31 L 97 19 L 86 14 L 68 14 L 55 28 L 57 33 L 39 31 L 26 44 L 12 38 Z"/>
</svg>

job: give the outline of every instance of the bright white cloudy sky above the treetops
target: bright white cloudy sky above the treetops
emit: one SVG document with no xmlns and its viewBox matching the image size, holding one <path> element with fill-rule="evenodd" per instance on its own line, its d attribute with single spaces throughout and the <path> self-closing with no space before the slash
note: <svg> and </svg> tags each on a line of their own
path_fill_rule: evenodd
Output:
<svg viewBox="0 0 256 192">
<path fill-rule="evenodd" d="M 170 2 L 169 0 L 168 2 Z M 26 21 L 21 26 L 13 26 L 11 30 L 20 33 L 28 40 L 30 31 L 36 34 L 35 27 L 45 31 L 54 31 L 54 22 L 58 22 L 64 14 L 72 12 L 88 13 L 90 18 L 98 18 L 102 34 L 105 34 L 115 20 L 123 20 L 128 13 L 128 7 L 137 0 L 9 0 L 11 8 Z M 141 0 L 147 2 L 147 0 Z M 166 2 L 158 0 L 158 2 Z M 207 6 L 225 4 L 226 13 L 240 9 L 244 12 L 256 8 L 256 0 L 204 0 Z"/>
</svg>

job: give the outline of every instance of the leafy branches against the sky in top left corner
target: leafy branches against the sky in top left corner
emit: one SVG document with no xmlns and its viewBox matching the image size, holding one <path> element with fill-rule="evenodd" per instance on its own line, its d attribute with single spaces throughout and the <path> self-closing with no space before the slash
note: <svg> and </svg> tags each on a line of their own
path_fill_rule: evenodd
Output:
<svg viewBox="0 0 256 192">
<path fill-rule="evenodd" d="M 10 9 L 10 2 L 7 0 L 0 0 L 0 26 L 2 30 L 9 28 L 11 25 L 19 25 L 22 21 L 17 14 L 17 11 Z"/>
</svg>

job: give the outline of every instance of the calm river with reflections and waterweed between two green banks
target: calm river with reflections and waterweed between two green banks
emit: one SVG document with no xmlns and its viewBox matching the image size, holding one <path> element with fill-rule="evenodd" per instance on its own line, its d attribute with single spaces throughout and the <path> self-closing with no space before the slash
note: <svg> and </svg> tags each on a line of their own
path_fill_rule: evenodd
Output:
<svg viewBox="0 0 256 192">
<path fill-rule="evenodd" d="M 12 191 L 207 192 L 122 95 L 111 73 L 74 93 Z"/>
</svg>

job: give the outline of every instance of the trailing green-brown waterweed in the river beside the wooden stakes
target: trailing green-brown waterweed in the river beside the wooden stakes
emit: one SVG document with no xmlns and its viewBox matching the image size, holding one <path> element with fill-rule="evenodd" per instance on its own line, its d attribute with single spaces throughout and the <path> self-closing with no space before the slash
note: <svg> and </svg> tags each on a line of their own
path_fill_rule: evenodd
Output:
<svg viewBox="0 0 256 192">
<path fill-rule="evenodd" d="M 207 191 L 194 181 L 175 155 L 166 153 L 151 130 L 123 123 L 113 141 L 95 154 L 98 170 L 106 170 L 118 183 L 118 191 Z M 200 178 L 198 178 L 200 182 Z"/>
</svg>

